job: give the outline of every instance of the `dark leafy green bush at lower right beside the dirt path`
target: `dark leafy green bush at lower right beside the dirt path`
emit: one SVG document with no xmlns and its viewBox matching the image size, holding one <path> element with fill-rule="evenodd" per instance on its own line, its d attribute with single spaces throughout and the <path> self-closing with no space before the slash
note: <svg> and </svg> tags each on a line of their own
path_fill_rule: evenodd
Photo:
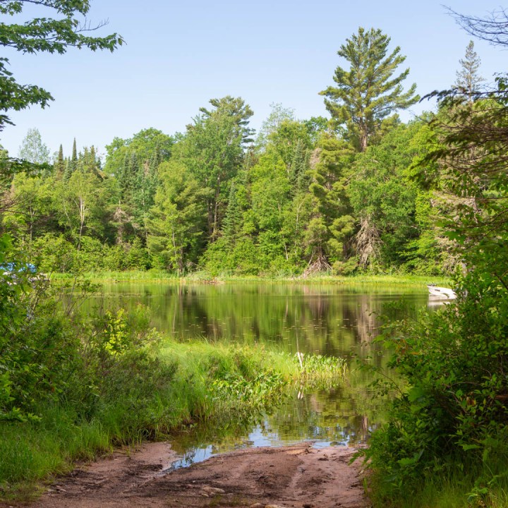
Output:
<svg viewBox="0 0 508 508">
<path fill-rule="evenodd" d="M 506 471 L 498 475 L 508 457 L 508 291 L 471 272 L 459 293 L 458 303 L 398 322 L 380 339 L 406 385 L 388 387 L 399 390 L 389 424 L 363 454 L 389 495 L 443 471 L 476 477 L 471 492 L 508 485 Z"/>
</svg>

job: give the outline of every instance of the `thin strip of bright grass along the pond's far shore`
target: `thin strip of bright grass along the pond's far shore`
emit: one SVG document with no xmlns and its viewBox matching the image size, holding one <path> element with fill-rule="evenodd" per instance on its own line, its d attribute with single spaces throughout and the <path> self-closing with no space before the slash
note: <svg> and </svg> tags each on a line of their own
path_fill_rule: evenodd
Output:
<svg viewBox="0 0 508 508">
<path fill-rule="evenodd" d="M 148 271 L 130 271 L 130 272 L 86 272 L 83 277 L 92 282 L 150 282 L 164 283 L 168 282 L 202 282 L 202 283 L 229 283 L 229 282 L 291 282 L 301 284 L 329 283 L 329 284 L 394 284 L 405 286 L 422 286 L 425 284 L 447 285 L 451 279 L 448 277 L 436 277 L 432 275 L 413 275 L 413 274 L 354 274 L 345 276 L 318 274 L 312 277 L 300 277 L 298 275 L 266 275 L 266 276 L 236 276 L 219 275 L 214 277 L 207 272 L 194 272 L 186 277 L 178 277 L 169 272 L 156 270 Z M 68 274 L 53 274 L 54 280 L 72 279 Z"/>
</svg>

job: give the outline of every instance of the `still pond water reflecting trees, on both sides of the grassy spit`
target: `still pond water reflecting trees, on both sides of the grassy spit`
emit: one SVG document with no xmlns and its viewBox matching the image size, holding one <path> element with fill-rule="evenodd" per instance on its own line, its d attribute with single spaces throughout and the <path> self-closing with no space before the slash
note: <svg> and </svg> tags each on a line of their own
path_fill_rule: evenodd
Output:
<svg viewBox="0 0 508 508">
<path fill-rule="evenodd" d="M 394 309 L 394 302 L 399 302 Z M 290 353 L 320 353 L 351 358 L 374 355 L 380 315 L 416 315 L 428 305 L 425 286 L 380 284 L 146 284 L 105 285 L 87 305 L 149 306 L 155 327 L 185 340 L 267 344 Z M 353 368 L 353 365 L 352 365 Z M 382 421 L 382 409 L 368 389 L 368 375 L 329 392 L 304 392 L 289 399 L 243 433 L 221 439 L 183 437 L 174 448 L 183 454 L 175 466 L 229 449 L 281 446 L 312 440 L 315 446 L 366 442 Z"/>
</svg>

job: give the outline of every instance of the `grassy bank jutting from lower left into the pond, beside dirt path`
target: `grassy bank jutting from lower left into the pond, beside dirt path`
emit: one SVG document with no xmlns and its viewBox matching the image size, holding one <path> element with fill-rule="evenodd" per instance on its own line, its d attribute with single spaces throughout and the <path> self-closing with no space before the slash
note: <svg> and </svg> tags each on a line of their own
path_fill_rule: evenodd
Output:
<svg viewBox="0 0 508 508">
<path fill-rule="evenodd" d="M 35 418 L 0 422 L 0 497 L 26 497 L 40 480 L 121 444 L 194 425 L 239 425 L 277 405 L 294 383 L 340 382 L 344 363 L 262 348 L 163 339 L 144 355 L 123 351 L 104 379 L 68 389 Z M 307 363 L 306 363 L 307 362 Z M 83 380 L 86 383 L 86 380 Z"/>
</svg>

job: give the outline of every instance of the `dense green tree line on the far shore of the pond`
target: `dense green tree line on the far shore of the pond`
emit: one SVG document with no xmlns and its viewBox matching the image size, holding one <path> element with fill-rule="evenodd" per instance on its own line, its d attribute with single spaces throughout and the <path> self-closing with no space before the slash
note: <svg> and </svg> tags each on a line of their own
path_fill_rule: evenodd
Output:
<svg viewBox="0 0 508 508">
<path fill-rule="evenodd" d="M 418 96 L 415 85 L 404 91 L 409 69 L 399 73 L 404 56 L 389 43 L 360 28 L 341 46 L 350 67 L 322 92 L 329 120 L 274 104 L 256 137 L 248 104 L 226 96 L 185 133 L 114 138 L 103 162 L 74 142 L 52 164 L 32 129 L 20 155 L 42 165 L 4 181 L 2 227 L 39 254 L 42 270 L 453 270 L 435 227 L 439 195 L 412 169 L 438 143 L 430 123 L 447 111 L 399 119 Z M 468 97 L 477 60 L 471 43 L 456 84 Z"/>
</svg>

